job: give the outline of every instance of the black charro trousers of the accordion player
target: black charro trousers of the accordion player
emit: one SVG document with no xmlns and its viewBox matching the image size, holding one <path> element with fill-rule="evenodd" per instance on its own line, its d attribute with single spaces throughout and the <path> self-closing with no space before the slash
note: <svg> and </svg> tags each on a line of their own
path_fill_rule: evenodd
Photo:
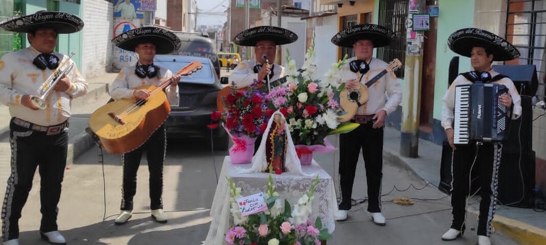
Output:
<svg viewBox="0 0 546 245">
<path fill-rule="evenodd" d="M 452 162 L 452 197 L 453 221 L 451 228 L 465 230 L 466 201 L 470 194 L 472 171 L 478 172 L 479 205 L 478 235 L 491 235 L 491 220 L 495 215 L 497 200 L 498 167 L 501 162 L 502 144 L 483 143 L 476 145 L 456 145 Z"/>
</svg>

